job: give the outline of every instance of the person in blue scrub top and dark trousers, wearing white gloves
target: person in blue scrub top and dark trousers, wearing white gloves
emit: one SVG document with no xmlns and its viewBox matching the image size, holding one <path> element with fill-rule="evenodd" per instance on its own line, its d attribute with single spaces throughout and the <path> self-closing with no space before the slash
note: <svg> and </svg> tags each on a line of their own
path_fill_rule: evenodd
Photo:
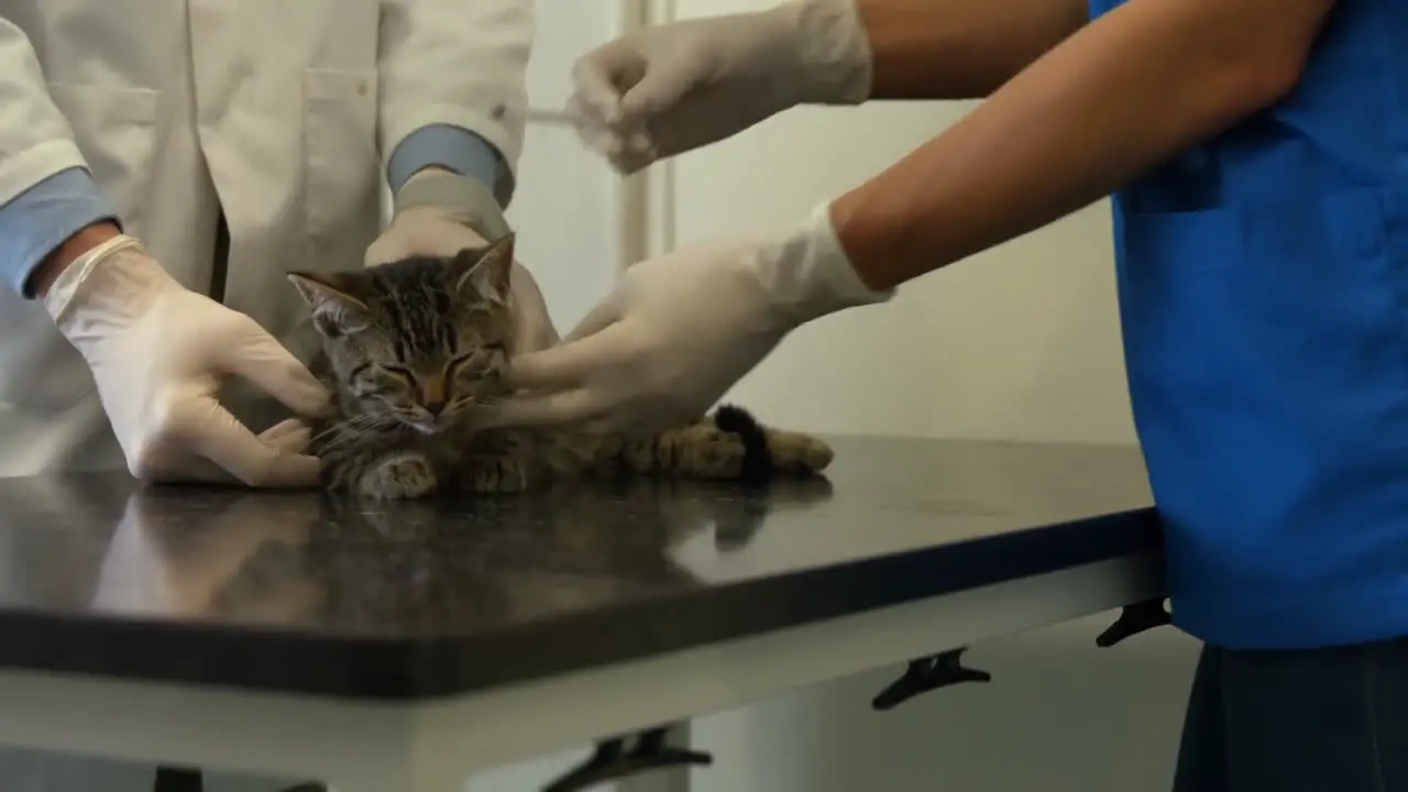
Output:
<svg viewBox="0 0 1408 792">
<path fill-rule="evenodd" d="M 1174 619 L 1205 641 L 1176 788 L 1408 791 L 1408 1 L 810 0 L 574 78 L 621 172 L 796 104 L 987 100 L 793 228 L 627 271 L 517 361 L 505 423 L 697 416 L 800 324 L 1112 193 Z"/>
</svg>

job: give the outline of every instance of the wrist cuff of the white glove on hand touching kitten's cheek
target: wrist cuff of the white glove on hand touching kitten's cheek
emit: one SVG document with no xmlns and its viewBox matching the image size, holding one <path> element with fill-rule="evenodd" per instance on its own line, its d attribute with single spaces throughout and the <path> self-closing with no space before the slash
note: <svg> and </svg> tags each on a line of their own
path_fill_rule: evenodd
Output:
<svg viewBox="0 0 1408 792">
<path fill-rule="evenodd" d="M 876 292 L 856 275 L 831 224 L 829 203 L 815 207 L 801 228 L 763 248 L 759 276 L 797 324 L 894 296 L 894 289 Z"/>
</svg>

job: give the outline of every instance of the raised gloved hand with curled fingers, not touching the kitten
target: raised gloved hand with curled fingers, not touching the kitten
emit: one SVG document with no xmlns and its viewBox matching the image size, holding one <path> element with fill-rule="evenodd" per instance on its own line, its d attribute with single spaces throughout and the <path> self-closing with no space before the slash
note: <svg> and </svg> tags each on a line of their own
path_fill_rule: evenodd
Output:
<svg viewBox="0 0 1408 792">
<path fill-rule="evenodd" d="M 582 56 L 577 134 L 622 173 L 724 140 L 796 104 L 859 104 L 872 55 L 853 0 L 629 32 Z"/>
</svg>

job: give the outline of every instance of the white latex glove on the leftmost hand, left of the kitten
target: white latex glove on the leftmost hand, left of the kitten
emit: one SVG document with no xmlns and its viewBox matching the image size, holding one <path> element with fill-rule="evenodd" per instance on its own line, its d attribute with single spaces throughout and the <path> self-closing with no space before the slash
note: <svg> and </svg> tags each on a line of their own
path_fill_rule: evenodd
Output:
<svg viewBox="0 0 1408 792">
<path fill-rule="evenodd" d="M 329 407 L 328 392 L 255 320 L 177 283 L 137 240 L 120 235 L 79 256 L 44 307 L 93 371 L 134 476 L 317 483 L 298 420 L 255 437 L 217 396 L 237 373 L 311 417 Z"/>
</svg>

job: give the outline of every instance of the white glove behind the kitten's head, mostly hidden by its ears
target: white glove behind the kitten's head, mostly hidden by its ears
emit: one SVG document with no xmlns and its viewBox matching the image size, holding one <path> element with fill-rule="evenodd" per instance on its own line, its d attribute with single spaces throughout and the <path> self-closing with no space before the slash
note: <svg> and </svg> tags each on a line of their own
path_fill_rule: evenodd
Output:
<svg viewBox="0 0 1408 792">
<path fill-rule="evenodd" d="M 363 264 L 375 266 L 411 255 L 452 258 L 465 248 L 489 247 L 486 235 L 500 238 L 510 233 L 487 187 L 451 171 L 427 168 L 401 186 L 396 216 L 366 249 Z M 514 311 L 510 354 L 546 349 L 558 342 L 542 290 L 518 259 L 508 272 L 508 303 Z"/>
</svg>

